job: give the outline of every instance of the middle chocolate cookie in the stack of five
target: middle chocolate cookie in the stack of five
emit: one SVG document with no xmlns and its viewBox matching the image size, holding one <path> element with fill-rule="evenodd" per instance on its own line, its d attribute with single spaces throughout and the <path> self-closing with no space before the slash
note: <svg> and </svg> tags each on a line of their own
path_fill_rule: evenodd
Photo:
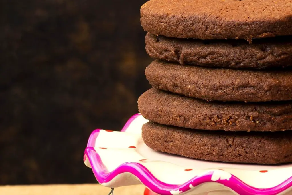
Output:
<svg viewBox="0 0 292 195">
<path fill-rule="evenodd" d="M 155 60 L 146 68 L 145 75 L 153 87 L 208 101 L 292 99 L 292 70 L 205 68 Z"/>
</svg>

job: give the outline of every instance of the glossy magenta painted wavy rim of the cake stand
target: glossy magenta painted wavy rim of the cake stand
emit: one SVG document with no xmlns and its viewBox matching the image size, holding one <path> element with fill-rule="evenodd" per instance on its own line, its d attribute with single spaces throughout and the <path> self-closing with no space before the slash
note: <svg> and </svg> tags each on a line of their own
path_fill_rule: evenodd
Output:
<svg viewBox="0 0 292 195">
<path fill-rule="evenodd" d="M 135 118 L 137 118 L 139 115 L 140 114 L 133 115 L 126 122 L 126 125 L 121 130 L 121 132 L 125 132 L 128 126 L 131 124 L 131 122 L 133 122 L 133 120 L 135 120 Z M 161 182 L 156 177 L 154 177 L 152 173 L 147 168 L 145 168 L 145 166 L 141 165 L 140 163 L 123 163 L 117 169 L 113 170 L 112 172 L 108 172 L 106 166 L 102 163 L 100 156 L 93 148 L 99 132 L 100 129 L 97 129 L 91 133 L 88 139 L 87 147 L 84 151 L 84 161 L 87 156 L 93 174 L 100 184 L 110 182 L 112 179 L 114 179 L 117 175 L 121 173 L 129 172 L 138 177 L 142 184 L 144 184 L 151 191 L 161 195 L 171 195 L 170 191 L 178 190 L 181 191 L 181 193 L 183 193 L 191 189 L 190 185 L 196 187 L 205 182 L 217 182 L 223 184 L 224 186 L 229 187 L 230 189 L 232 189 L 233 191 L 240 195 L 245 194 L 276 195 L 292 187 L 292 176 L 275 187 L 260 189 L 249 186 L 248 184 L 244 183 L 243 181 L 241 181 L 239 178 L 232 174 L 229 180 L 212 181 L 211 177 L 213 175 L 213 171 L 207 172 L 206 174 L 201 176 L 195 176 L 191 180 L 185 182 L 184 184 L 173 185 Z"/>
</svg>

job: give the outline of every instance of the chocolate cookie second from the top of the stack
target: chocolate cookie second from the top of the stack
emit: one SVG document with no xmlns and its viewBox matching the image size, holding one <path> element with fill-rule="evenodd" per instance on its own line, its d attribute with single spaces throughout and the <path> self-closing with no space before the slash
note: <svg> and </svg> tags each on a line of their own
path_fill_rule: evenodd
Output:
<svg viewBox="0 0 292 195">
<path fill-rule="evenodd" d="M 284 68 L 292 65 L 292 36 L 244 40 L 177 39 L 146 34 L 150 57 L 187 65 L 227 68 Z"/>
</svg>

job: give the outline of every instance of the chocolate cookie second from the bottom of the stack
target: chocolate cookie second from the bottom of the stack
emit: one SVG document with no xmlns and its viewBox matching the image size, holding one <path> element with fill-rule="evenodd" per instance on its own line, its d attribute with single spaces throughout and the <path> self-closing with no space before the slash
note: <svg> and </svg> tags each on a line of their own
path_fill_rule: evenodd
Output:
<svg viewBox="0 0 292 195">
<path fill-rule="evenodd" d="M 138 99 L 141 115 L 153 122 L 201 130 L 284 131 L 292 129 L 292 101 L 207 102 L 155 88 Z"/>
</svg>

